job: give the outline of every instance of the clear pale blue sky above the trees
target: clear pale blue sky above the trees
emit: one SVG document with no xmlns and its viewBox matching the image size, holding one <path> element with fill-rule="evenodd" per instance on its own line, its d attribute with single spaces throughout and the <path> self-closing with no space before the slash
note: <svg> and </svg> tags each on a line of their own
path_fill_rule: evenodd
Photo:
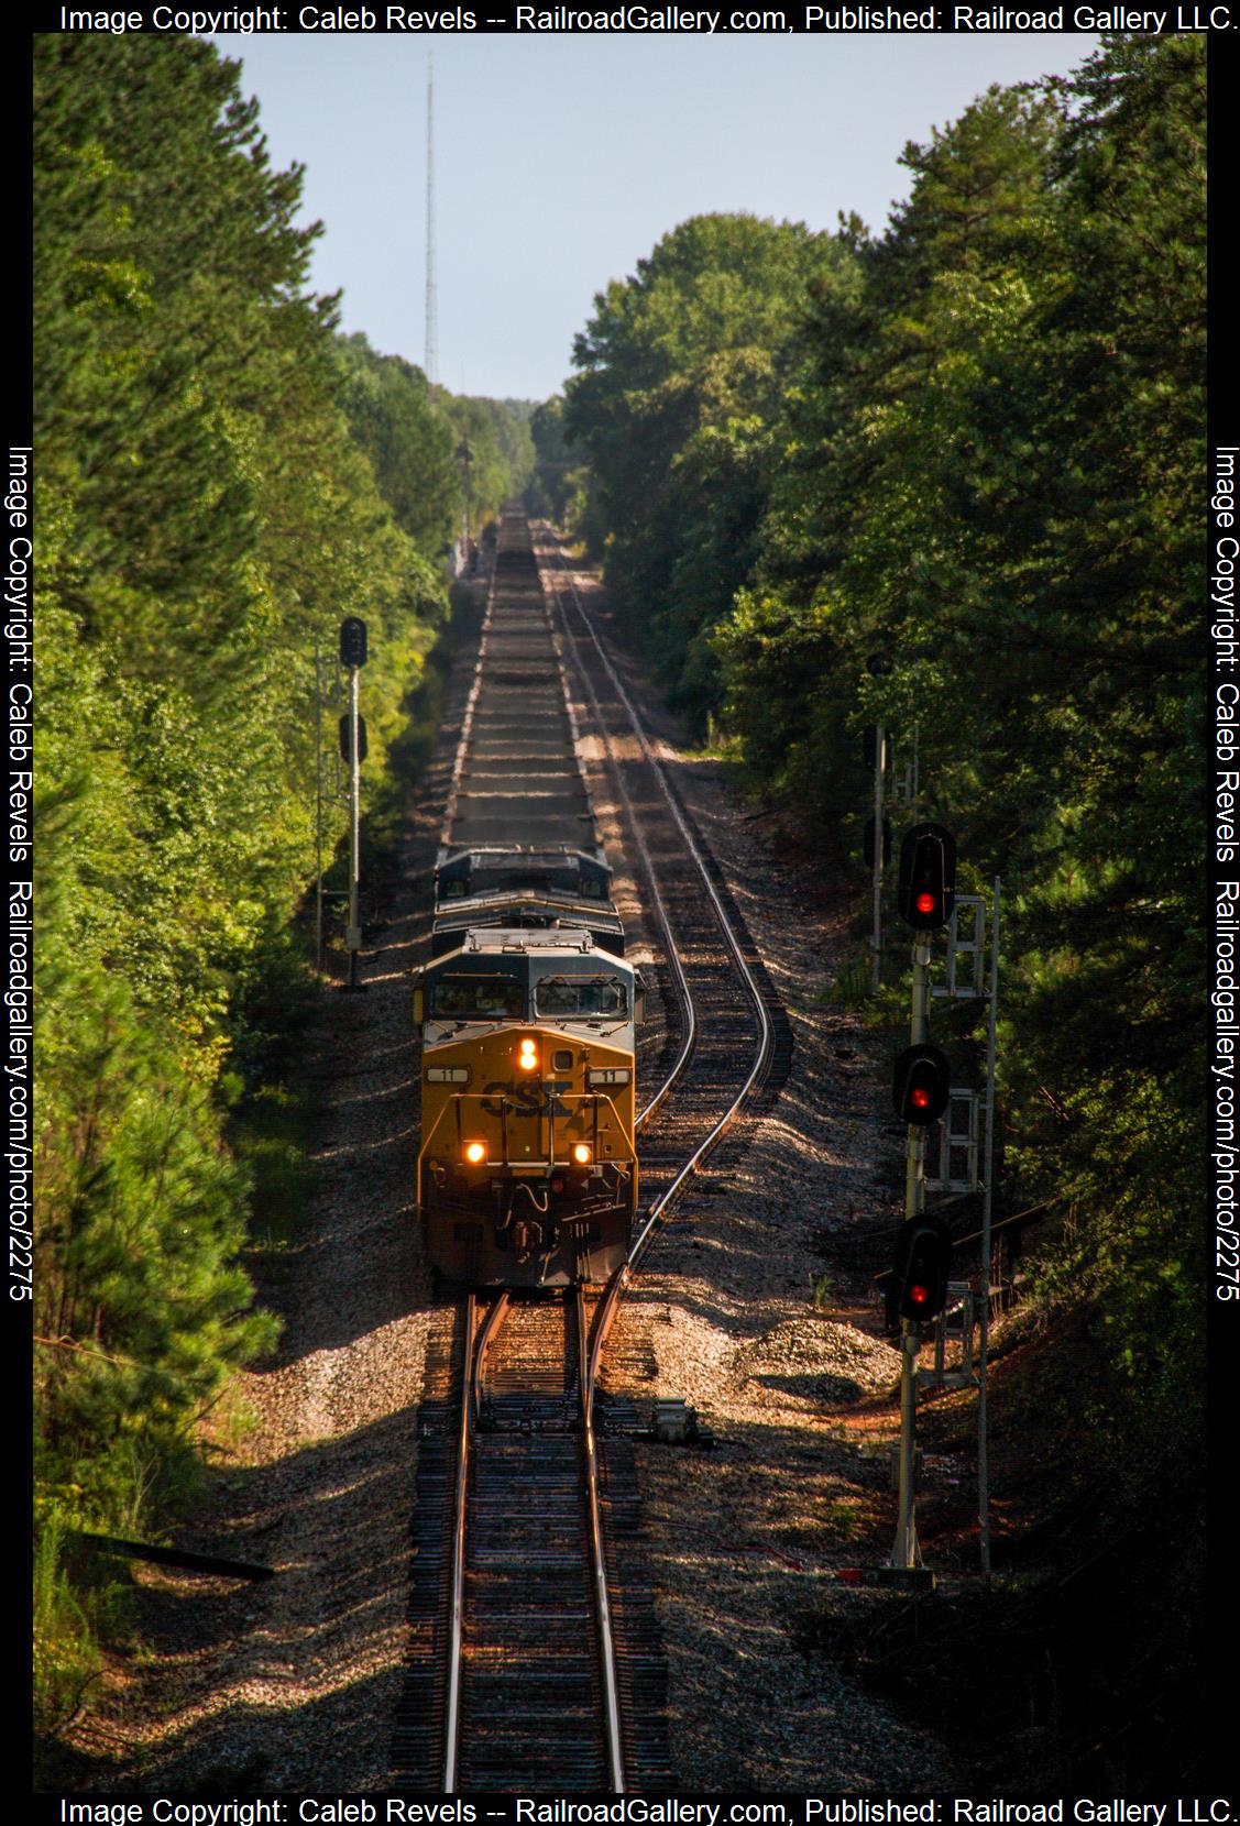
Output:
<svg viewBox="0 0 1240 1826">
<path fill-rule="evenodd" d="M 1067 73 L 1092 33 L 851 37 L 219 35 L 272 159 L 305 164 L 320 290 L 384 354 L 426 352 L 435 55 L 438 378 L 542 400 L 594 294 L 707 210 L 882 228 L 904 144 L 992 82 Z"/>
</svg>

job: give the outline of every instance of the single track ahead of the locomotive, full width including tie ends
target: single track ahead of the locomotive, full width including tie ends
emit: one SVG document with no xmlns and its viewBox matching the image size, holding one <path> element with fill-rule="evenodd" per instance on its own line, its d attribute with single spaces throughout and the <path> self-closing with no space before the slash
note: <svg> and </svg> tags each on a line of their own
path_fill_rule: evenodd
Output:
<svg viewBox="0 0 1240 1826">
<path fill-rule="evenodd" d="M 581 1289 L 469 1295 L 436 1315 L 402 1788 L 623 1793 L 668 1780 L 657 1623 L 632 1569 L 632 1444 L 608 1441 L 604 1463 L 595 1435 L 597 1306 Z"/>
</svg>

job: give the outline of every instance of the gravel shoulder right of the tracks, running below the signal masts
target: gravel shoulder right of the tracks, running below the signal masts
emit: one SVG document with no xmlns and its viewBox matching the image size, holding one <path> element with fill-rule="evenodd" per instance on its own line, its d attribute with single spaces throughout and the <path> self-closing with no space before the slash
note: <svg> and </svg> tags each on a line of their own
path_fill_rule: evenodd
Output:
<svg viewBox="0 0 1240 1826">
<path fill-rule="evenodd" d="M 588 573 L 575 581 L 606 624 L 603 593 Z M 814 1645 L 833 1618 L 877 1614 L 880 1594 L 835 1574 L 884 1559 L 895 1532 L 898 1351 L 869 1271 L 849 1264 L 867 1260 L 875 1231 L 895 1233 L 893 1176 L 877 1167 L 898 1136 L 882 1043 L 829 1001 L 858 953 L 849 904 L 824 869 L 780 853 L 720 763 L 685 749 L 643 668 L 623 668 L 793 1028 L 778 1099 L 707 1163 L 615 1329 L 610 1386 L 639 1402 L 683 1395 L 716 1437 L 710 1452 L 637 1446 L 672 1768 L 707 1793 L 951 1788 L 946 1747 Z M 595 798 L 623 851 L 604 776 Z M 652 933 L 646 950 L 657 960 Z"/>
</svg>

